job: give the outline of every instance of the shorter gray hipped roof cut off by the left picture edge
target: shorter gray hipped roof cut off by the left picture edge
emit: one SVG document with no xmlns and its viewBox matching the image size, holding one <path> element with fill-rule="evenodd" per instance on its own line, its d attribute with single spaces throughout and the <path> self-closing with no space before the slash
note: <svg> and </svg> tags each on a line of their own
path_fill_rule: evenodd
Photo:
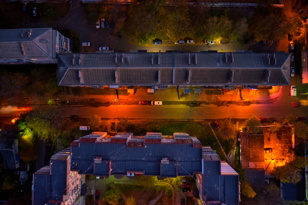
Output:
<svg viewBox="0 0 308 205">
<path fill-rule="evenodd" d="M 28 32 L 31 33 L 30 38 Z M 55 58 L 53 35 L 52 28 L 0 30 L 0 59 Z"/>
</svg>

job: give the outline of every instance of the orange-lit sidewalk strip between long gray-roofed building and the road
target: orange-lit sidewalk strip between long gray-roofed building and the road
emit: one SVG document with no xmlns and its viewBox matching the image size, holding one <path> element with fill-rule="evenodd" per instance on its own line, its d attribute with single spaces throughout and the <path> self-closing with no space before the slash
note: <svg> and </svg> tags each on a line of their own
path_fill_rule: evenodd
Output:
<svg viewBox="0 0 308 205">
<path fill-rule="evenodd" d="M 267 89 L 258 89 L 255 92 L 255 95 L 249 95 L 252 92 L 251 89 L 234 89 L 229 92 L 224 92 L 221 95 L 213 95 L 213 94 L 206 94 L 207 89 L 202 89 L 200 95 L 194 95 L 194 89 L 191 89 L 191 93 L 188 95 L 184 95 L 184 89 L 160 89 L 155 90 L 154 95 L 148 95 L 147 89 L 136 89 L 135 94 L 119 94 L 117 96 L 115 94 L 115 90 L 108 91 L 107 94 L 104 95 L 84 95 L 81 96 L 74 96 L 74 95 L 55 95 L 56 98 L 68 98 L 69 100 L 89 100 L 89 101 L 102 101 L 106 102 L 109 101 L 112 104 L 119 104 L 122 102 L 129 102 L 135 104 L 136 101 L 144 100 L 144 101 L 151 101 L 151 100 L 159 100 L 159 101 L 174 101 L 176 104 L 180 104 L 182 102 L 202 102 L 202 103 L 209 103 L 209 104 L 268 104 L 273 103 L 276 101 L 283 91 L 283 86 L 280 86 L 279 91 L 269 95 L 269 91 Z M 123 93 L 123 90 L 121 90 Z M 92 100 L 91 100 L 92 99 Z M 100 99 L 100 100 L 98 100 Z"/>
</svg>

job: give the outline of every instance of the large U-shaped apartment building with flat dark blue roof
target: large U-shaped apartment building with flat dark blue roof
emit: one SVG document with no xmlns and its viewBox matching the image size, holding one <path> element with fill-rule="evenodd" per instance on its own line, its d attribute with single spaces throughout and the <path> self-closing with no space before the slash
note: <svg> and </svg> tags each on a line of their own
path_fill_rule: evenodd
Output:
<svg viewBox="0 0 308 205">
<path fill-rule="evenodd" d="M 63 204 L 70 201 L 80 188 L 78 179 L 70 178 L 84 174 L 106 177 L 143 174 L 163 178 L 196 174 L 199 201 L 203 205 L 213 201 L 217 205 L 239 204 L 239 175 L 221 162 L 210 147 L 202 147 L 196 137 L 187 133 L 109 136 L 101 132 L 92 132 L 73 141 L 67 153 L 53 155 L 49 166 L 33 174 L 32 204 L 47 203 L 55 200 L 55 196 Z M 40 195 L 45 196 L 39 198 Z"/>
</svg>

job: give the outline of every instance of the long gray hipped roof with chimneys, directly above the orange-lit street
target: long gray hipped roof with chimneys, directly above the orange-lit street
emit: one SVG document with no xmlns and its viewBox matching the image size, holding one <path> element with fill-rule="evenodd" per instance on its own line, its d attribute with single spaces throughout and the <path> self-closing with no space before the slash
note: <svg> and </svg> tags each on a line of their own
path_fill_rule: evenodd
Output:
<svg viewBox="0 0 308 205">
<path fill-rule="evenodd" d="M 58 58 L 59 85 L 268 86 L 288 85 L 289 80 L 288 53 L 86 53 Z"/>
</svg>

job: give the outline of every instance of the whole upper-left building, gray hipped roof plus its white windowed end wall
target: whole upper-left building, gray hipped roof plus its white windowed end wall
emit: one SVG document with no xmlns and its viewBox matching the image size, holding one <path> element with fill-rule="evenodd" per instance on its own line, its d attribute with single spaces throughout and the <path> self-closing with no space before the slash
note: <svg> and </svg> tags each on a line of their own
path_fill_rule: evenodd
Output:
<svg viewBox="0 0 308 205">
<path fill-rule="evenodd" d="M 70 39 L 52 28 L 0 30 L 0 64 L 56 64 Z"/>
</svg>

